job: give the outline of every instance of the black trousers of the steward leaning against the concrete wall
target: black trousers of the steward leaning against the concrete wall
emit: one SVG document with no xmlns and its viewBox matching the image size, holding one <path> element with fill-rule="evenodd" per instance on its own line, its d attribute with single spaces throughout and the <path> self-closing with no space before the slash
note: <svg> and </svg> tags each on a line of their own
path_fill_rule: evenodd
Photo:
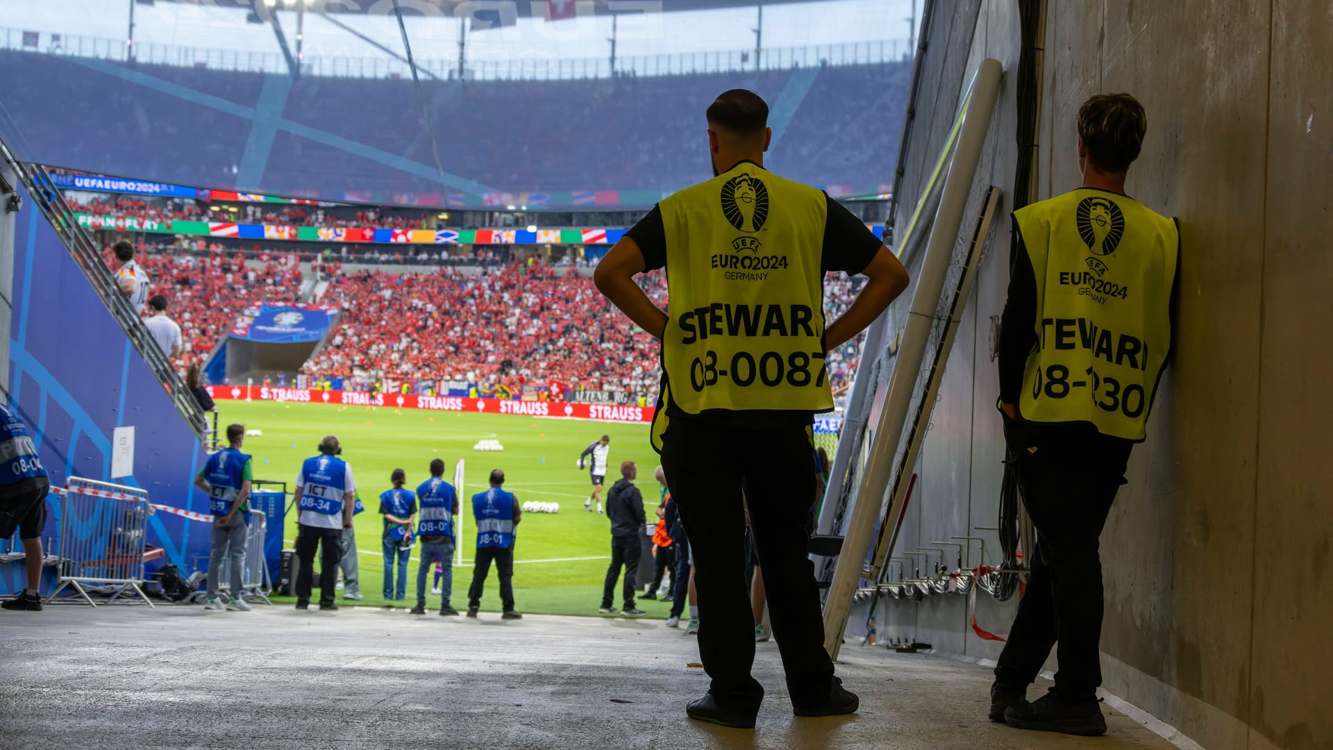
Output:
<svg viewBox="0 0 1333 750">
<path fill-rule="evenodd" d="M 1037 548 L 1026 593 L 996 665 L 996 681 L 1026 687 L 1058 643 L 1056 693 L 1070 702 L 1090 701 L 1101 685 L 1098 538 L 1125 483 L 1133 446 L 1101 435 L 1034 442 L 1014 439 L 1016 431 L 1006 431 L 1022 503 L 1037 530 Z"/>
</svg>

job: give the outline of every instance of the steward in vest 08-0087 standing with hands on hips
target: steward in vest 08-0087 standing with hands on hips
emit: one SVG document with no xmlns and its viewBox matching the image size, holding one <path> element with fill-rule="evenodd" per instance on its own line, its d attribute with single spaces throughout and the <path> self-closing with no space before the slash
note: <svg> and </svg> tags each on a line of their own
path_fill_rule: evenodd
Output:
<svg viewBox="0 0 1333 750">
<path fill-rule="evenodd" d="M 833 677 L 806 556 L 816 486 L 810 424 L 814 412 L 833 408 L 825 354 L 882 312 L 908 278 L 846 208 L 764 168 L 772 132 L 762 99 L 728 91 L 706 116 L 713 179 L 659 203 L 593 276 L 663 342 L 652 443 L 698 563 L 700 653 L 712 678 L 686 714 L 753 727 L 764 694 L 750 675 L 754 622 L 738 587 L 746 507 L 765 578 L 794 591 L 772 610 L 793 709 L 848 714 L 857 698 Z M 666 270 L 669 318 L 635 283 L 657 268 Z M 869 280 L 841 318 L 826 322 L 830 271 Z"/>
</svg>

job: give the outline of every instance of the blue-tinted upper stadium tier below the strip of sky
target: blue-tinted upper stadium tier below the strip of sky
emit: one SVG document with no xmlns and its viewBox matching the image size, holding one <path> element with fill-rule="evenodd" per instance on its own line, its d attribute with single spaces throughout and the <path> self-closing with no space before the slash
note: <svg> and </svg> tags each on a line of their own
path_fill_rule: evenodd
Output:
<svg viewBox="0 0 1333 750">
<path fill-rule="evenodd" d="M 128 67 L 9 49 L 0 49 L 0 69 L 15 72 L 5 99 L 31 159 L 209 187 L 236 184 L 237 155 L 249 132 L 243 111 L 256 104 L 263 83 L 259 73 Z M 593 204 L 596 191 L 673 191 L 706 177 L 708 101 L 744 87 L 776 103 L 797 72 L 421 85 L 447 172 L 529 195 L 583 190 Z M 829 65 L 814 75 L 770 153 L 774 167 L 834 195 L 888 181 L 909 65 Z M 49 96 L 51 80 L 61 81 L 61 96 Z M 437 180 L 375 156 L 392 153 L 433 169 L 420 112 L 409 105 L 412 85 L 300 76 L 284 108 L 293 127 L 276 132 L 260 184 L 241 187 L 329 199 L 439 194 Z M 467 116 L 452 116 L 457 112 Z M 830 120 L 830 112 L 840 115 Z M 91 129 L 71 137 L 60 123 Z M 357 147 L 312 140 L 303 128 Z"/>
</svg>

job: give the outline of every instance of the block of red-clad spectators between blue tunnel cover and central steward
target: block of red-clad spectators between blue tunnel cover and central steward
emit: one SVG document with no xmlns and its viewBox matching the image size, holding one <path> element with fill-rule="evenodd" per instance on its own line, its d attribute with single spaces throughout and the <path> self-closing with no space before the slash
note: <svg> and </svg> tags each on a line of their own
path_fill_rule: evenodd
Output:
<svg viewBox="0 0 1333 750">
<path fill-rule="evenodd" d="M 476 274 L 339 274 L 320 302 L 343 308 L 317 378 L 657 390 L 657 346 L 575 270 L 512 263 Z M 645 290 L 665 304 L 660 274 Z"/>
</svg>

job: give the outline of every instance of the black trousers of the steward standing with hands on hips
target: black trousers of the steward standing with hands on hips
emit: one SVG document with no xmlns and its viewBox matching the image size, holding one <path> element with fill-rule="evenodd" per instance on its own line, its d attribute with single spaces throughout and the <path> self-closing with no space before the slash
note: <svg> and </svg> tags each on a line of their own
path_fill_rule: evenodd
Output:
<svg viewBox="0 0 1333 750">
<path fill-rule="evenodd" d="M 709 693 L 725 709 L 757 710 L 764 689 L 754 665 L 754 615 L 745 581 L 745 512 L 764 560 L 769 617 L 792 703 L 828 697 L 833 662 L 806 555 L 814 502 L 814 448 L 802 426 L 753 430 L 673 418 L 663 435 L 663 468 L 694 551 L 698 651 Z M 680 583 L 684 583 L 681 581 Z"/>
</svg>

